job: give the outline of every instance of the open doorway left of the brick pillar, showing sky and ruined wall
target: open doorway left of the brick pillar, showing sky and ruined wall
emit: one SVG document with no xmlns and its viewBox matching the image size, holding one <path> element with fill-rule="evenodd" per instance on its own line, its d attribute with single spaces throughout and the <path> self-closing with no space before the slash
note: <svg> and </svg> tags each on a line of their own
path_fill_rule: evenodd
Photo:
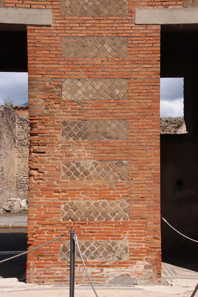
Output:
<svg viewBox="0 0 198 297">
<path fill-rule="evenodd" d="M 26 198 L 24 189 L 28 178 L 28 132 L 26 117 L 14 108 L 5 108 L 4 99 L 13 105 L 27 104 L 28 96 L 28 59 L 26 26 L 0 25 L 1 65 L 0 65 L 0 188 L 12 194 Z M 9 105 L 9 104 L 8 104 Z M 24 173 L 23 162 L 27 161 Z M 0 229 L 0 260 L 7 259 L 27 250 L 27 229 L 21 224 L 27 213 L 5 213 L 4 202 L 15 198 L 0 191 L 1 219 L 4 222 Z M 24 200 L 23 200 L 24 201 Z M 20 218 L 22 214 L 23 219 Z M 9 226 L 12 225 L 12 228 Z M 19 226 L 21 225 L 21 226 Z M 14 227 L 15 226 L 15 227 Z M 15 229 L 16 228 L 16 229 Z M 1 264 L 0 278 L 16 277 L 20 281 L 26 279 L 26 256 L 18 257 Z"/>
</svg>

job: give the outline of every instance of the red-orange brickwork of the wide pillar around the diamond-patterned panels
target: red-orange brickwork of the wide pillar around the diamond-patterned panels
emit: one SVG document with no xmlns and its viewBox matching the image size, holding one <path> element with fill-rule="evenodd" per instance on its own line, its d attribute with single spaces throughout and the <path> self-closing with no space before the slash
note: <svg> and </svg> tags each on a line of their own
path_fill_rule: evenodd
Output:
<svg viewBox="0 0 198 297">
<path fill-rule="evenodd" d="M 104 245 L 103 241 L 107 241 L 113 245 L 116 242 L 118 254 L 122 244 L 127 245 L 126 255 L 121 259 L 111 256 L 105 261 L 100 255 L 87 260 L 94 282 L 116 284 L 119 276 L 127 279 L 129 284 L 136 282 L 134 278 L 138 283 L 159 282 L 160 26 L 136 26 L 134 11 L 137 7 L 178 7 L 182 1 L 130 1 L 129 14 L 115 17 L 61 16 L 59 1 L 9 0 L 5 5 L 53 10 L 52 27 L 28 26 L 27 31 L 31 125 L 29 247 L 45 243 L 73 226 L 83 243 Z M 67 58 L 61 50 L 63 40 L 68 37 L 124 37 L 128 41 L 128 52 L 125 51 L 123 56 L 119 53 L 116 58 Z M 62 94 L 66 79 L 124 80 L 128 85 L 128 96 L 126 99 L 100 100 L 94 96 L 90 100 L 68 99 Z M 71 140 L 62 136 L 64 121 L 74 121 L 75 124 L 98 121 L 101 124 L 107 120 L 127 122 L 124 138 Z M 106 163 L 101 163 L 103 161 Z M 64 174 L 68 164 L 77 166 L 75 162 L 109 166 L 112 161 L 115 165 L 118 161 L 127 164 L 127 177 L 121 178 L 118 173 L 114 175 L 115 179 L 113 174 L 110 178 L 98 179 L 96 174 L 90 181 L 77 177 L 71 180 Z M 85 204 L 87 201 L 123 201 L 129 205 L 130 219 L 63 220 L 63 206 L 82 200 Z M 28 254 L 27 282 L 69 282 L 69 262 L 60 255 L 64 244 L 64 240 L 56 241 Z M 76 263 L 75 282 L 87 282 L 80 261 Z"/>
</svg>

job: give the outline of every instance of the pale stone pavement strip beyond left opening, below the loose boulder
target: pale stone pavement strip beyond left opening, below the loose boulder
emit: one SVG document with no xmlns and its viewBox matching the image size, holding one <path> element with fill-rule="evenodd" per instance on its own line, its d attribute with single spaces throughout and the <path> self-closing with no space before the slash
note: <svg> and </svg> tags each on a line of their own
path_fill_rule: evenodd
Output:
<svg viewBox="0 0 198 297">
<path fill-rule="evenodd" d="M 0 229 L 24 229 L 27 228 L 27 221 L 27 212 L 3 213 L 0 214 Z M 19 230 L 15 232 L 19 232 Z"/>
</svg>

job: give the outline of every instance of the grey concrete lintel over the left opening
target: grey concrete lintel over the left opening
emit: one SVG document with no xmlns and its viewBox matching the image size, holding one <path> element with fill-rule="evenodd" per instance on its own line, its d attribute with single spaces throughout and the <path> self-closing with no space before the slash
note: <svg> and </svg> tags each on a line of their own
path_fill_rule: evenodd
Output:
<svg viewBox="0 0 198 297">
<path fill-rule="evenodd" d="M 0 23 L 51 26 L 51 9 L 0 8 Z"/>
</svg>

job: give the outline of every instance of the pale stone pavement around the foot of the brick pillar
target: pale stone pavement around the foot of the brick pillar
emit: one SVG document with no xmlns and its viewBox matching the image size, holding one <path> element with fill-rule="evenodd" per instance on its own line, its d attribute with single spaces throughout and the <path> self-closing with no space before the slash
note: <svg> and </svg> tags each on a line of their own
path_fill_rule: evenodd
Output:
<svg viewBox="0 0 198 297">
<path fill-rule="evenodd" d="M 167 263 L 162 264 L 161 285 L 119 287 L 95 286 L 99 297 L 190 297 L 198 282 L 198 272 Z M 32 285 L 15 278 L 0 279 L 1 297 L 69 296 L 69 287 L 62 285 Z M 75 297 L 94 297 L 91 286 L 75 285 Z M 198 296 L 198 293 L 195 297 Z"/>
</svg>

